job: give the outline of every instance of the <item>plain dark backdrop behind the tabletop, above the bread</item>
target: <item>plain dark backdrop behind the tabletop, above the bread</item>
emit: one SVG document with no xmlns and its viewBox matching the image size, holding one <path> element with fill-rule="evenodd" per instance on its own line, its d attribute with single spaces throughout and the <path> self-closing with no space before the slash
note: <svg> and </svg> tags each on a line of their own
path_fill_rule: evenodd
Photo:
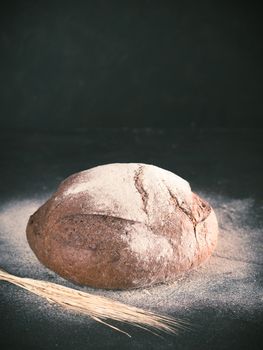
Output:
<svg viewBox="0 0 263 350">
<path fill-rule="evenodd" d="M 3 129 L 254 128 L 261 9 L 222 1 L 11 1 Z"/>
</svg>

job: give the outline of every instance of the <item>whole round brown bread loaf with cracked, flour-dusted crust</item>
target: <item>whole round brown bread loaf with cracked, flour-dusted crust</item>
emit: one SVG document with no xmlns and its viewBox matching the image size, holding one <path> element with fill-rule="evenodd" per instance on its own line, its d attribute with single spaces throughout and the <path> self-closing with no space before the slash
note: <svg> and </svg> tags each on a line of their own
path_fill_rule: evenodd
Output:
<svg viewBox="0 0 263 350">
<path fill-rule="evenodd" d="M 187 181 L 141 163 L 71 175 L 27 225 L 29 245 L 45 266 L 106 289 L 175 280 L 210 256 L 217 233 L 213 209 Z"/>
</svg>

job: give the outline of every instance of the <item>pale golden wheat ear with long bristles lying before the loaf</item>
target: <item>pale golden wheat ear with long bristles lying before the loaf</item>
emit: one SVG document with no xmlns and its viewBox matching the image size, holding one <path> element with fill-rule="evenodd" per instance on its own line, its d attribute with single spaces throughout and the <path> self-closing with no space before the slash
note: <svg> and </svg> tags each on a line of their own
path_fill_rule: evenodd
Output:
<svg viewBox="0 0 263 350">
<path fill-rule="evenodd" d="M 158 334 L 154 331 L 177 333 L 179 329 L 187 328 L 186 323 L 169 316 L 159 315 L 110 298 L 85 293 L 56 283 L 17 277 L 2 269 L 0 269 L 0 280 L 13 283 L 68 310 L 86 314 L 129 337 L 131 337 L 129 333 L 105 322 L 105 320 L 131 324 L 156 335 Z"/>
</svg>

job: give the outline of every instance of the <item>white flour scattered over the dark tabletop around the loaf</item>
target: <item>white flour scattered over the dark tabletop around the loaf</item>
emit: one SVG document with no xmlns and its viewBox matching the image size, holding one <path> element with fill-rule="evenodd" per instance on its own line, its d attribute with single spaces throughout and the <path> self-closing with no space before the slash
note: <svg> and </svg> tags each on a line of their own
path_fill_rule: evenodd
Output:
<svg viewBox="0 0 263 350">
<path fill-rule="evenodd" d="M 185 273 L 172 284 L 130 291 L 105 291 L 75 286 L 44 267 L 28 246 L 25 229 L 29 216 L 45 202 L 39 199 L 14 200 L 0 208 L 0 266 L 19 276 L 43 279 L 83 291 L 105 295 L 119 301 L 159 312 L 186 315 L 189 308 L 214 307 L 251 314 L 263 311 L 262 300 L 262 230 L 250 225 L 253 216 L 252 199 L 231 199 L 219 195 L 200 193 L 215 209 L 219 221 L 219 240 L 212 257 L 195 270 Z M 131 247 L 138 253 L 151 249 L 148 233 L 141 241 L 130 236 Z M 169 248 L 168 248 L 169 250 Z M 164 253 L 164 252 L 163 252 Z M 169 254 L 169 252 L 168 252 Z M 0 290 L 1 290 L 0 282 Z M 2 285 L 1 299 L 18 303 L 20 307 L 38 310 L 47 315 L 56 312 L 57 317 L 69 317 L 46 301 L 15 287 Z M 8 293 L 9 291 L 9 293 Z M 11 292 L 12 291 L 12 292 Z M 27 300 L 27 302 L 25 302 Z M 33 312 L 32 311 L 32 312 Z M 48 316 L 47 316 L 48 317 Z M 75 316 L 71 316 L 75 317 Z"/>
</svg>

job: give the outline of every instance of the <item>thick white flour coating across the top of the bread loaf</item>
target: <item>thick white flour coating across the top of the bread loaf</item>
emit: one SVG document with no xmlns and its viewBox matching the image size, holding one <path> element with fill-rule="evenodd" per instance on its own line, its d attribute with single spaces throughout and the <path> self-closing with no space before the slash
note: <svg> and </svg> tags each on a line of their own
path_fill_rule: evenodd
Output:
<svg viewBox="0 0 263 350">
<path fill-rule="evenodd" d="M 65 180 L 57 195 L 68 197 L 65 200 L 85 195 L 87 203 L 96 204 L 98 214 L 111 213 L 148 224 L 155 224 L 156 218 L 174 211 L 171 195 L 185 209 L 190 209 L 192 203 L 187 181 L 157 166 L 140 163 L 105 164 L 82 171 Z M 94 214 L 93 208 L 86 205 L 85 212 Z"/>
</svg>

